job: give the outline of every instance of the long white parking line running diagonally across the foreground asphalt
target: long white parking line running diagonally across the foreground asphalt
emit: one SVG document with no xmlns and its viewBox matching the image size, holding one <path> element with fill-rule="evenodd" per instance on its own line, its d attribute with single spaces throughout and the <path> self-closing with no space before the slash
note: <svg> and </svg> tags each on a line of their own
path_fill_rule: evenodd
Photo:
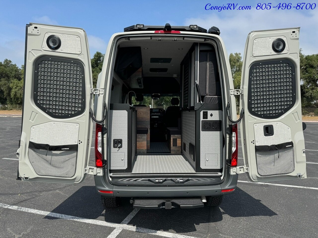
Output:
<svg viewBox="0 0 318 238">
<path fill-rule="evenodd" d="M 95 225 L 99 225 L 99 226 L 122 228 L 122 229 L 129 230 L 129 231 L 135 231 L 135 232 L 146 233 L 146 234 L 151 234 L 151 235 L 159 235 L 159 236 L 169 237 L 169 238 L 197 238 L 194 236 L 179 235 L 179 234 L 174 234 L 174 233 L 165 232 L 165 231 L 157 231 L 157 230 L 152 230 L 152 229 L 147 229 L 147 228 L 142 228 L 142 227 L 129 226 L 129 225 L 125 225 L 125 224 L 117 224 L 117 223 L 108 222 L 108 221 L 86 219 L 86 218 L 78 217 L 78 216 L 70 216 L 70 215 L 64 215 L 64 214 L 59 214 L 59 213 L 54 213 L 54 212 L 46 212 L 46 211 L 36 210 L 36 209 L 32 209 L 32 208 L 18 207 L 18 206 L 8 205 L 8 204 L 4 204 L 4 203 L 0 203 L 0 207 L 12 209 L 12 210 L 17 210 L 17 211 L 34 213 L 34 214 L 43 215 L 43 216 L 52 216 L 52 217 L 57 217 L 57 218 L 61 218 L 61 219 L 66 219 L 66 220 L 85 222 L 85 223 L 95 224 Z"/>
</svg>

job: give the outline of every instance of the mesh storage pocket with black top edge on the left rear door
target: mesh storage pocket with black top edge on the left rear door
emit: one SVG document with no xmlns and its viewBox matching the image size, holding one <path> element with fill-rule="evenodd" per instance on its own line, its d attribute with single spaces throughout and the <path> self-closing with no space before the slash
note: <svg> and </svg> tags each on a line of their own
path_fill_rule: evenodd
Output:
<svg viewBox="0 0 318 238">
<path fill-rule="evenodd" d="M 78 145 L 29 142 L 29 161 L 38 175 L 70 178 L 75 175 Z"/>
</svg>

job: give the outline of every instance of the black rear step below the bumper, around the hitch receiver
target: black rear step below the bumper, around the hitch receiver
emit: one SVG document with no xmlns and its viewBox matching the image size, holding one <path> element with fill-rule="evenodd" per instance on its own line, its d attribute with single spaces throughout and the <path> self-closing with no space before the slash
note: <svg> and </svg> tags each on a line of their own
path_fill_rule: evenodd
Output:
<svg viewBox="0 0 318 238">
<path fill-rule="evenodd" d="M 135 198 L 130 200 L 134 208 L 158 209 L 158 208 L 202 208 L 204 203 L 201 198 L 162 198 L 162 199 L 144 199 Z"/>
</svg>

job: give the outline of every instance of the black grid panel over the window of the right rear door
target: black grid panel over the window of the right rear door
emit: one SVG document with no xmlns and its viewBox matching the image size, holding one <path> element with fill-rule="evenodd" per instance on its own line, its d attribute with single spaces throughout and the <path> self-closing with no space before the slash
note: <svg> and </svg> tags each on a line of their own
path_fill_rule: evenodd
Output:
<svg viewBox="0 0 318 238">
<path fill-rule="evenodd" d="M 295 66 L 290 60 L 253 63 L 249 70 L 248 110 L 261 118 L 278 118 L 296 101 Z"/>
</svg>

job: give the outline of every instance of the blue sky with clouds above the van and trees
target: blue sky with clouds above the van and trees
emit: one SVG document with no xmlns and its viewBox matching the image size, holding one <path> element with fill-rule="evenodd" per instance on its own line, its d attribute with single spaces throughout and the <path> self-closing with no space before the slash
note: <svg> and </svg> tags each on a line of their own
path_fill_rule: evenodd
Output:
<svg viewBox="0 0 318 238">
<path fill-rule="evenodd" d="M 84 28 L 91 56 L 105 52 L 110 36 L 124 27 L 148 25 L 197 24 L 206 29 L 217 26 L 228 53 L 244 51 L 247 34 L 252 30 L 301 27 L 300 47 L 305 54 L 318 53 L 318 3 L 314 10 L 256 10 L 266 1 L 5 1 L 0 0 L 0 61 L 5 58 L 24 62 L 25 24 L 29 22 Z M 273 1 L 276 6 L 280 0 Z M 266 3 L 267 3 L 266 2 Z M 284 2 L 284 1 L 282 1 Z M 299 1 L 288 1 L 296 6 Z M 314 1 L 309 1 L 314 2 Z M 238 3 L 252 10 L 205 10 L 205 5 Z"/>
</svg>

